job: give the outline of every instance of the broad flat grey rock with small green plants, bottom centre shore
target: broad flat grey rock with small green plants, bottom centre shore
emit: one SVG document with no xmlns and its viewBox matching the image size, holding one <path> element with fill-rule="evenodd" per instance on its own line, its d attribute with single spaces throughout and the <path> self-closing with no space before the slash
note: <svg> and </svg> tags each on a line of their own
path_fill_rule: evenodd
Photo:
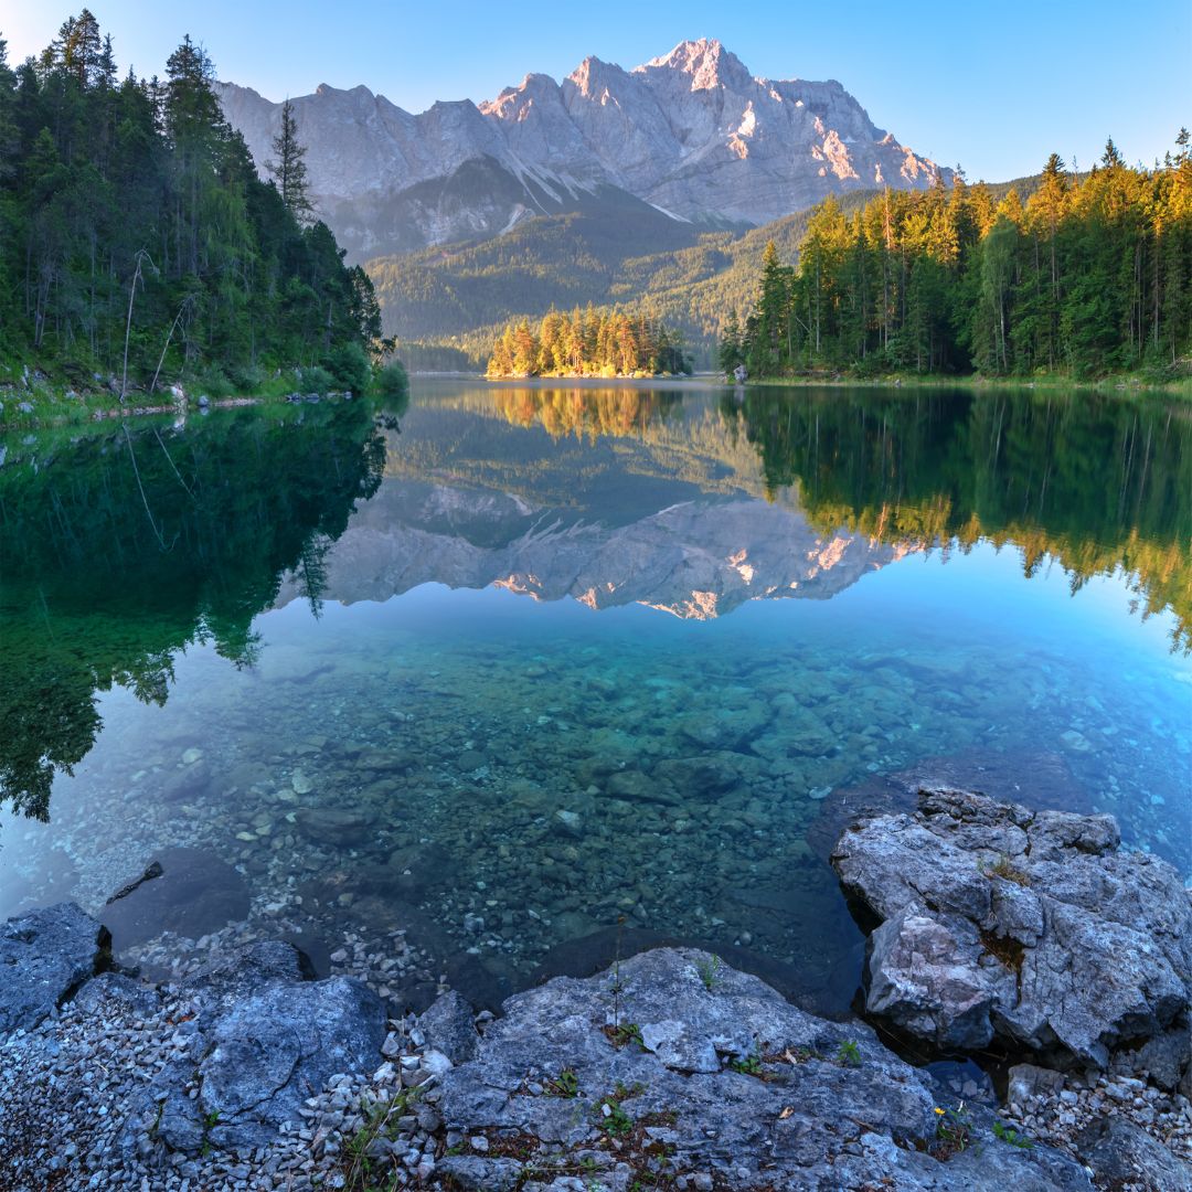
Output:
<svg viewBox="0 0 1192 1192">
<path fill-rule="evenodd" d="M 448 1130 L 496 1154 L 449 1155 L 437 1171 L 461 1187 L 533 1175 L 561 1188 L 617 1163 L 646 1178 L 666 1154 L 669 1173 L 741 1192 L 1089 1187 L 1045 1147 L 940 1162 L 937 1104 L 930 1078 L 864 1024 L 808 1014 L 707 952 L 660 948 L 509 998 L 474 1058 L 442 1075 L 439 1105 Z"/>
</svg>

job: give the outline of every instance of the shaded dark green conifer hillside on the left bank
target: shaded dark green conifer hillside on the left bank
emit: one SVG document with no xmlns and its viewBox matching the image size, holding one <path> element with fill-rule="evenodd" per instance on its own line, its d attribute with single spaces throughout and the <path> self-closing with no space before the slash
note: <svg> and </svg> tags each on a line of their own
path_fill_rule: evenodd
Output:
<svg viewBox="0 0 1192 1192">
<path fill-rule="evenodd" d="M 292 123 L 262 182 L 186 37 L 164 79 L 118 75 L 86 8 L 13 68 L 0 41 L 0 362 L 254 389 L 279 368 L 367 377 L 372 283 L 303 188 Z M 356 387 L 356 385 L 352 385 Z"/>
</svg>

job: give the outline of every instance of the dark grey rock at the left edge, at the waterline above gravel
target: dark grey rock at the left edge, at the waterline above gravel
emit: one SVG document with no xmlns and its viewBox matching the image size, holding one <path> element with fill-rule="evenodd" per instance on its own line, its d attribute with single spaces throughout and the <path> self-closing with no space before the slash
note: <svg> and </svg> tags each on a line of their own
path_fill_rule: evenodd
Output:
<svg viewBox="0 0 1192 1192">
<path fill-rule="evenodd" d="M 0 926 L 0 1036 L 32 1030 L 111 961 L 111 937 L 74 902 Z"/>
</svg>

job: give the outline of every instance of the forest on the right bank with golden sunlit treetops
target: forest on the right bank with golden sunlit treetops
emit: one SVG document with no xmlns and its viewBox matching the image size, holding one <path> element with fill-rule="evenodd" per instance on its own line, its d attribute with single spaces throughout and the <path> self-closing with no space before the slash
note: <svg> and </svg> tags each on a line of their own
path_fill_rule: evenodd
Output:
<svg viewBox="0 0 1192 1192">
<path fill-rule="evenodd" d="M 814 368 L 1177 377 L 1192 352 L 1192 156 L 1128 167 L 1110 141 L 1082 178 L 1053 154 L 1024 203 L 987 187 L 821 204 L 797 266 L 766 246 L 757 299 L 730 321 L 720 364 L 751 375 Z"/>
</svg>

